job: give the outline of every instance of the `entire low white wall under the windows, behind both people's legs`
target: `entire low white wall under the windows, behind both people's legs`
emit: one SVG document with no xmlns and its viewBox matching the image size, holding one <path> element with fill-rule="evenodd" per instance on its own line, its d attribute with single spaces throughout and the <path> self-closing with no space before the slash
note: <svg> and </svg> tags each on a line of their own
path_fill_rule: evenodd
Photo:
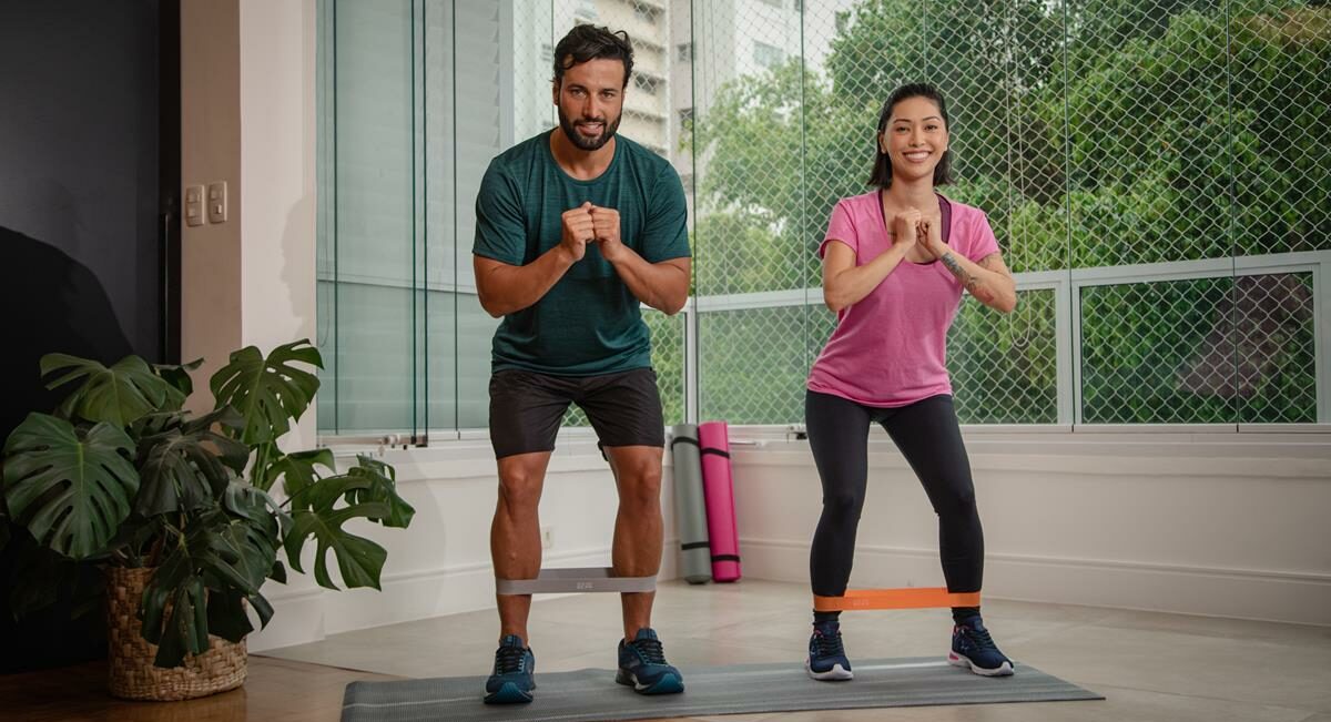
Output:
<svg viewBox="0 0 1331 722">
<path fill-rule="evenodd" d="M 1331 625 L 1326 434 L 973 432 L 966 442 L 988 598 Z M 763 444 L 732 448 L 744 577 L 807 583 L 817 473 L 807 442 Z M 852 587 L 941 586 L 922 489 L 886 438 L 870 449 Z M 492 607 L 488 445 L 385 460 L 397 465 L 417 517 L 406 532 L 365 529 L 389 549 L 383 591 L 270 585 L 278 613 L 252 649 Z M 662 579 L 677 575 L 669 477 Z M 542 525 L 555 529 L 546 563 L 607 565 L 614 513 L 614 485 L 595 446 L 560 441 L 542 500 Z"/>
</svg>

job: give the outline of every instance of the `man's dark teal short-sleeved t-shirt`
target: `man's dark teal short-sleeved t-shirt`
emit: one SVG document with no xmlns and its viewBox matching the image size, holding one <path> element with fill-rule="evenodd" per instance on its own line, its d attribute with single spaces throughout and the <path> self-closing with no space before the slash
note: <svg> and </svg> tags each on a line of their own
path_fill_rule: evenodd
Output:
<svg viewBox="0 0 1331 722">
<path fill-rule="evenodd" d="M 559 132 L 558 128 L 551 132 Z M 490 161 L 476 194 L 471 252 L 527 265 L 559 245 L 560 216 L 584 201 L 619 210 L 619 237 L 648 262 L 687 257 L 684 188 L 669 161 L 615 136 L 604 173 L 567 173 L 542 133 Z M 651 366 L 652 346 L 639 301 L 596 244 L 535 305 L 504 316 L 491 368 L 555 376 L 600 376 Z"/>
</svg>

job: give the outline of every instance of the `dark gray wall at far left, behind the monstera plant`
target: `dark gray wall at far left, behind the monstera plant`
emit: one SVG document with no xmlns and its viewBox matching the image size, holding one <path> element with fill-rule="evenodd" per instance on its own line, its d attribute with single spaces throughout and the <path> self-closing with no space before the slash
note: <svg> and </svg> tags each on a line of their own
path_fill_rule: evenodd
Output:
<svg viewBox="0 0 1331 722">
<path fill-rule="evenodd" d="M 45 353 L 174 360 L 161 212 L 180 185 L 178 37 L 178 0 L 0 0 L 0 442 L 56 401 Z M 105 653 L 97 570 L 43 559 L 0 529 L 0 673 Z M 16 623 L 33 575 L 63 585 Z"/>
</svg>

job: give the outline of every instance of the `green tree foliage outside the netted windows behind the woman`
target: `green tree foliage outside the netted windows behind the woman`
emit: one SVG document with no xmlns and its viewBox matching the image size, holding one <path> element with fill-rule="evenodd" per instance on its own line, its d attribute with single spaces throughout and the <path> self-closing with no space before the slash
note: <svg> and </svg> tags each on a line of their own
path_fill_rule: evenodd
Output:
<svg viewBox="0 0 1331 722">
<path fill-rule="evenodd" d="M 1322 3 L 861 0 L 839 27 L 824 69 L 796 57 L 735 79 L 685 128 L 699 149 L 697 296 L 817 286 L 828 213 L 866 190 L 881 104 L 914 81 L 949 101 L 957 182 L 944 192 L 988 213 L 1013 270 L 1331 248 Z M 1134 293 L 1082 298 L 1083 418 L 1315 418 L 1299 388 L 1314 368 L 1311 321 L 1278 334 L 1283 365 L 1256 397 L 1199 396 L 1181 389 L 1179 365 L 1217 328 L 1217 292 L 1185 285 L 1169 304 L 1126 308 Z M 1034 313 L 1012 318 L 964 308 L 950 350 L 968 421 L 1057 418 L 1051 349 L 1067 329 L 1053 328 L 1050 298 L 1024 293 Z M 813 325 L 755 314 L 767 320 L 704 333 L 701 412 L 796 421 L 799 404 L 773 378 L 801 388 L 797 360 L 817 348 L 773 338 Z M 1147 361 L 1153 342 L 1174 350 Z"/>
</svg>

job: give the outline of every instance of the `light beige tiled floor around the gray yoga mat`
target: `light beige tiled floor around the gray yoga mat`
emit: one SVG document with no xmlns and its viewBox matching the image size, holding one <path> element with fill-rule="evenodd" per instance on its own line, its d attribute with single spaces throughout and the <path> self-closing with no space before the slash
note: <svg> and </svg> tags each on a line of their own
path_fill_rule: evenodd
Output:
<svg viewBox="0 0 1331 722">
<path fill-rule="evenodd" d="M 803 585 L 669 582 L 658 591 L 654 626 L 685 673 L 695 665 L 800 665 L 808 603 Z M 1328 627 L 1001 601 L 985 603 L 985 621 L 1018 674 L 1026 662 L 1107 699 L 700 719 L 1331 722 Z M 945 610 L 860 611 L 844 614 L 841 627 L 852 662 L 917 657 L 946 651 L 950 618 Z M 614 669 L 619 602 L 611 594 L 542 599 L 530 631 L 538 681 L 542 671 Z M 478 611 L 265 654 L 401 677 L 470 677 L 488 673 L 496 637 L 495 614 Z"/>
</svg>

